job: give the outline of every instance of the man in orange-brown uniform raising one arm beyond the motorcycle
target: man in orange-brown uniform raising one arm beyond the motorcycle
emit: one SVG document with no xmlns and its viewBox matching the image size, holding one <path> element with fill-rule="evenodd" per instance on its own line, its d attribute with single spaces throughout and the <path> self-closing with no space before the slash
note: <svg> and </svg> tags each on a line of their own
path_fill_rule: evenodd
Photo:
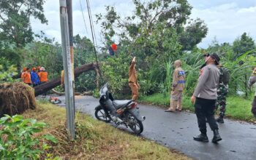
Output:
<svg viewBox="0 0 256 160">
<path fill-rule="evenodd" d="M 132 100 L 137 101 L 140 85 L 138 84 L 138 73 L 135 69 L 135 60 L 136 57 L 133 57 L 132 62 L 129 65 L 129 87 L 132 89 Z"/>
</svg>

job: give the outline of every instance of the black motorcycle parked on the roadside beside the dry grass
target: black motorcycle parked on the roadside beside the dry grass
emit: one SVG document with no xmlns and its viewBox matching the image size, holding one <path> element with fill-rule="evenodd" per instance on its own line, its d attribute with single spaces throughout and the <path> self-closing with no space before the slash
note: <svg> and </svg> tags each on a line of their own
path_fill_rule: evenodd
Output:
<svg viewBox="0 0 256 160">
<path fill-rule="evenodd" d="M 129 127 L 139 135 L 143 132 L 143 123 L 145 116 L 140 116 L 139 108 L 134 100 L 114 100 L 108 92 L 108 83 L 99 91 L 99 105 L 95 108 L 95 117 L 99 121 L 110 122 Z"/>
</svg>

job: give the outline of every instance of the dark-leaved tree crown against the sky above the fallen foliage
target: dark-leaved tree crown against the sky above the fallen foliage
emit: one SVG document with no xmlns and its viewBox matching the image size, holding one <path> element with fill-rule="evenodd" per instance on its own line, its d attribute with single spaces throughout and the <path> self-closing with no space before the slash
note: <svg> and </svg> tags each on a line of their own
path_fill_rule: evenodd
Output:
<svg viewBox="0 0 256 160">
<path fill-rule="evenodd" d="M 106 7 L 107 14 L 97 15 L 97 21 L 102 20 L 102 34 L 110 43 L 114 36 L 129 41 L 138 41 L 146 47 L 146 52 L 151 45 L 149 37 L 158 34 L 165 35 L 167 30 L 172 30 L 183 50 L 191 50 L 196 44 L 206 37 L 208 28 L 203 20 L 189 20 L 192 7 L 187 0 L 154 0 L 142 2 L 134 0 L 135 12 L 133 15 L 121 18 L 114 7 Z M 189 20 L 189 21 L 188 21 Z M 186 27 L 184 27 L 186 26 Z M 167 31 L 168 32 L 168 31 Z M 168 35 L 170 37 L 170 35 Z M 171 39 L 171 37 L 170 37 Z M 163 39 L 154 39 L 162 49 L 165 44 Z M 152 51 L 151 51 L 152 52 Z M 148 53 L 151 53 L 148 52 Z"/>
</svg>

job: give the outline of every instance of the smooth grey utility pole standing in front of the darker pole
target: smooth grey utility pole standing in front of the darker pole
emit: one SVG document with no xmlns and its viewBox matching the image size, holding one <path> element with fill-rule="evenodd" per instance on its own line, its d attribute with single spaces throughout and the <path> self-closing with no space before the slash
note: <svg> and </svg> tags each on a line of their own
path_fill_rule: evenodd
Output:
<svg viewBox="0 0 256 160">
<path fill-rule="evenodd" d="M 67 18 L 66 0 L 59 0 L 59 4 L 61 18 L 61 44 L 64 66 L 67 129 L 69 130 L 71 139 L 73 140 L 75 138 L 75 102 L 73 90 L 74 74 L 72 72 L 72 62 L 69 46 L 69 26 Z"/>
</svg>

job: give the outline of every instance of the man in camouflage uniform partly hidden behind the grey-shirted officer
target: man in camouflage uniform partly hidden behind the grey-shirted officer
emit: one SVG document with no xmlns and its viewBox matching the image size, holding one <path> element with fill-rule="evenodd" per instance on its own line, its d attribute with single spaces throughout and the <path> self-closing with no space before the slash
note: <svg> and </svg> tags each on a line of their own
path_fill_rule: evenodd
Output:
<svg viewBox="0 0 256 160">
<path fill-rule="evenodd" d="M 223 77 L 224 77 L 224 72 L 223 72 L 223 68 L 222 65 L 218 66 L 219 68 L 219 86 L 217 89 L 217 101 L 216 101 L 216 111 L 219 107 L 219 118 L 217 118 L 217 122 L 219 123 L 224 123 L 224 116 L 225 116 L 225 111 L 226 111 L 226 100 L 227 100 L 227 92 L 228 92 L 228 85 L 225 84 L 225 82 L 223 81 Z"/>
</svg>

